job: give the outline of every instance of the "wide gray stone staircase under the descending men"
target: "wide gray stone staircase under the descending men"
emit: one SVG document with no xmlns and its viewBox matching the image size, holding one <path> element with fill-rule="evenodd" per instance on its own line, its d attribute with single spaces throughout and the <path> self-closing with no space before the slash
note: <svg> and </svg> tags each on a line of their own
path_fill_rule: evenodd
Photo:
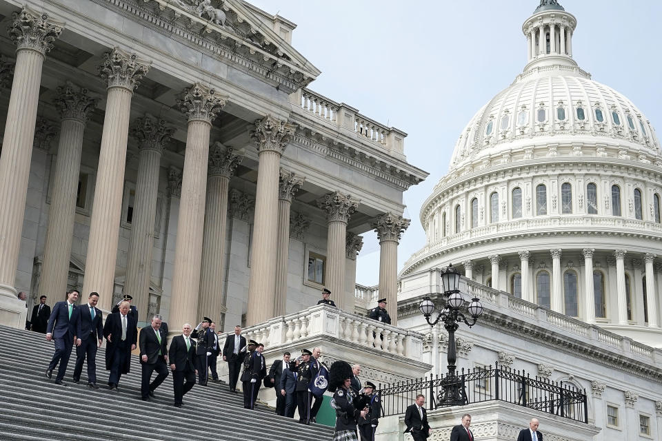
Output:
<svg viewBox="0 0 662 441">
<path fill-rule="evenodd" d="M 64 382 L 44 376 L 54 346 L 43 334 L 0 326 L 0 440 L 34 441 L 270 441 L 331 440 L 333 429 L 305 426 L 277 416 L 258 404 L 243 409 L 243 395 L 226 384 L 194 386 L 181 409 L 172 406 L 172 376 L 157 389 L 152 402 L 140 399 L 141 369 L 132 356 L 131 372 L 122 376 L 119 393 L 108 390 L 105 349 L 97 352 L 97 384 L 72 382 L 75 349 Z M 155 375 L 155 374 L 154 374 Z M 55 375 L 53 374 L 53 378 Z M 153 377 L 152 377 L 153 378 Z"/>
</svg>

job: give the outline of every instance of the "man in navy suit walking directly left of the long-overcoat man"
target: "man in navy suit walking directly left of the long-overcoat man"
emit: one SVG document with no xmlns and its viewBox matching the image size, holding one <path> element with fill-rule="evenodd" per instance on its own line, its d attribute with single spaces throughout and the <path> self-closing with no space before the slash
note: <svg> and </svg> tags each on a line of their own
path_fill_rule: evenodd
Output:
<svg viewBox="0 0 662 441">
<path fill-rule="evenodd" d="M 74 383 L 81 379 L 83 362 L 88 359 L 88 386 L 97 386 L 97 348 L 103 343 L 103 315 L 97 308 L 99 293 L 91 292 L 87 305 L 79 307 L 79 320 L 76 323 L 76 367 Z"/>
</svg>

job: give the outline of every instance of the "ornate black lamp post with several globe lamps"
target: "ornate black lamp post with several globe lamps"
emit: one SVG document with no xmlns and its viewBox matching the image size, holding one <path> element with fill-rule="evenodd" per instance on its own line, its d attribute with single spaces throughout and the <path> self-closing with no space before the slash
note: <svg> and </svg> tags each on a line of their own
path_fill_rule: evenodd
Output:
<svg viewBox="0 0 662 441">
<path fill-rule="evenodd" d="M 464 297 L 460 292 L 460 274 L 453 265 L 448 265 L 448 268 L 441 271 L 441 284 L 443 287 L 443 296 L 445 298 L 445 306 L 439 311 L 437 318 L 433 322 L 430 321 L 432 313 L 434 312 L 434 302 L 430 300 L 430 296 L 425 296 L 419 309 L 421 314 L 425 316 L 425 321 L 430 326 L 437 325 L 439 320 L 443 322 L 443 327 L 448 331 L 448 375 L 442 380 L 443 396 L 439 397 L 439 406 L 461 406 L 465 404 L 465 396 L 463 385 L 456 373 L 455 361 L 457 356 L 455 353 L 455 331 L 457 331 L 458 323 L 465 322 L 468 327 L 476 324 L 476 320 L 483 314 L 483 304 L 481 300 L 474 297 L 471 299 L 467 307 L 467 311 L 471 316 L 468 320 L 465 314 L 461 312 L 464 306 Z"/>
</svg>

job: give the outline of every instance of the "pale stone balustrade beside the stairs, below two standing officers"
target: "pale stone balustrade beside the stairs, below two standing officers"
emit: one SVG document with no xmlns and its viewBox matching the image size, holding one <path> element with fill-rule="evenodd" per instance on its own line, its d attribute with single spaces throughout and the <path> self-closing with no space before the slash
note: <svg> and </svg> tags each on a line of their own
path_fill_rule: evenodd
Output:
<svg viewBox="0 0 662 441">
<path fill-rule="evenodd" d="M 315 305 L 296 314 L 274 317 L 268 322 L 243 329 L 243 335 L 263 343 L 269 350 L 308 346 L 314 340 L 335 340 L 368 352 L 414 361 L 423 357 L 422 334 L 326 305 Z M 221 336 L 221 341 L 224 338 Z"/>
</svg>

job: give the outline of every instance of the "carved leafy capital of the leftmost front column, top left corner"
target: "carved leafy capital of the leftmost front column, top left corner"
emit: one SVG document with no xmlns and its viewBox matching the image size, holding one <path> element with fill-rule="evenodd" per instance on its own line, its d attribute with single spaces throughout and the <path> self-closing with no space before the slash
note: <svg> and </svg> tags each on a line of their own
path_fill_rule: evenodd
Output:
<svg viewBox="0 0 662 441">
<path fill-rule="evenodd" d="M 60 36 L 63 23 L 49 20 L 47 14 L 39 14 L 28 8 L 13 12 L 9 37 L 17 45 L 17 50 L 32 49 L 45 55 L 53 47 L 53 41 Z"/>
</svg>

